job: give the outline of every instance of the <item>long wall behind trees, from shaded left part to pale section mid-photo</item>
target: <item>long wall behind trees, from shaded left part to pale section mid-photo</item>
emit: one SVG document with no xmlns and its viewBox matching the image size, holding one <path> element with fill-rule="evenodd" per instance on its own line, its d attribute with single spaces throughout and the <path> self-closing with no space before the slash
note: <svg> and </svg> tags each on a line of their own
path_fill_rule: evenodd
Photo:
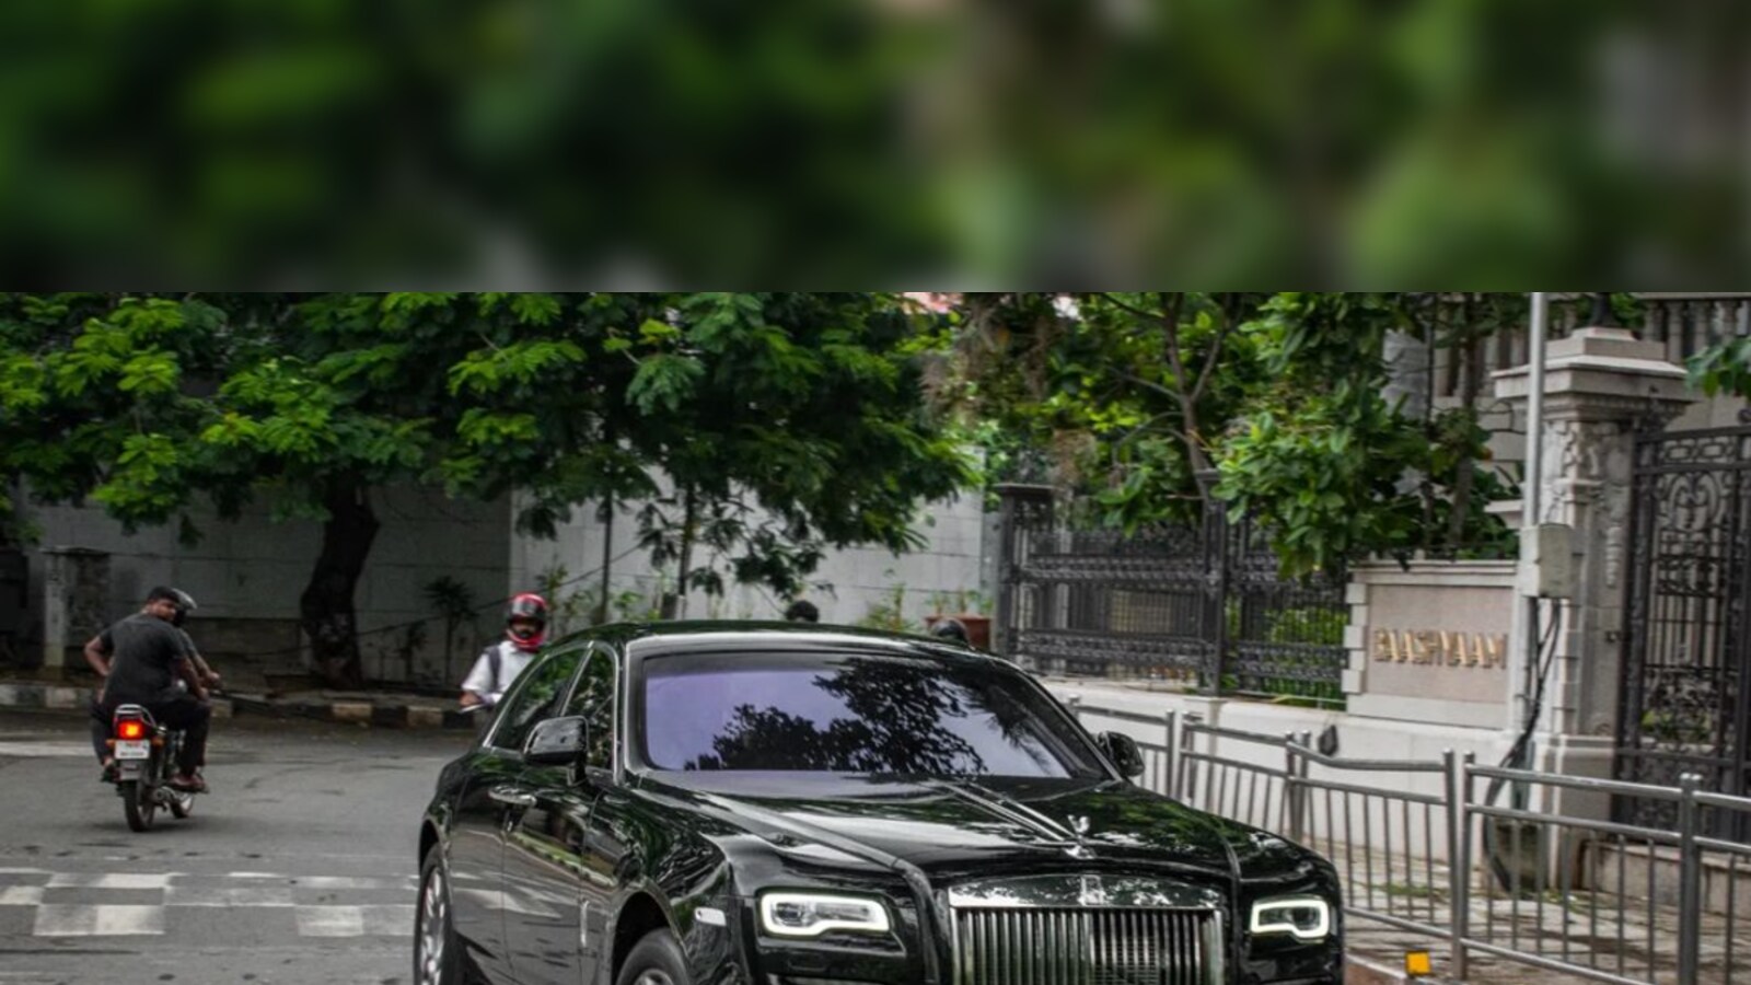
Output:
<svg viewBox="0 0 1751 985">
<path fill-rule="evenodd" d="M 382 531 L 371 549 L 355 596 L 362 633 L 364 671 L 369 678 L 403 680 L 406 654 L 413 655 L 413 680 L 454 684 L 466 673 L 483 641 L 499 634 L 503 601 L 539 587 L 541 575 L 555 566 L 567 571 L 567 585 L 552 599 L 564 622 L 564 603 L 599 587 L 602 526 L 592 507 L 564 524 L 555 540 L 515 535 L 511 500 L 462 503 L 425 489 L 389 489 L 375 500 Z M 191 633 L 222 671 L 298 671 L 308 666 L 298 629 L 298 596 L 310 578 L 320 545 L 320 526 L 312 521 L 273 522 L 266 508 L 252 508 L 235 522 L 194 515 L 203 536 L 194 545 L 177 542 L 175 528 L 151 528 L 124 535 L 121 526 L 89 507 L 32 507 L 30 519 L 42 529 L 30 561 L 30 617 L 25 657 L 40 661 L 44 634 L 46 549 L 82 547 L 110 557 L 109 598 L 98 606 L 103 619 L 119 619 L 138 608 L 154 584 L 184 587 L 200 601 Z M 805 598 L 828 622 L 858 622 L 874 606 L 893 603 L 898 594 L 904 619 L 921 624 L 942 598 L 951 606 L 956 592 L 979 592 L 986 517 L 979 498 L 961 498 L 926 510 L 919 533 L 926 545 L 895 557 L 886 550 L 828 554 L 812 578 L 832 585 L 811 589 Z M 630 510 L 616 517 L 613 594 L 637 596 L 613 615 L 643 615 L 665 585 L 650 568 L 648 552 L 637 547 L 637 524 Z M 995 543 L 995 540 L 991 542 Z M 434 578 L 452 577 L 473 596 L 478 613 L 461 626 L 445 659 L 445 624 L 424 591 Z M 672 575 L 667 584 L 672 584 Z M 571 613 L 581 626 L 588 612 L 581 596 Z M 975 599 L 968 598 L 968 605 Z M 637 605 L 634 605 L 637 603 Z M 688 617 L 777 619 L 783 603 L 758 587 L 732 587 L 725 598 L 693 592 Z M 408 624 L 420 622 L 410 636 Z M 564 629 L 564 626 L 557 626 Z M 81 663 L 77 647 L 86 629 L 70 640 L 63 659 Z M 411 643 L 411 648 L 410 648 Z"/>
</svg>

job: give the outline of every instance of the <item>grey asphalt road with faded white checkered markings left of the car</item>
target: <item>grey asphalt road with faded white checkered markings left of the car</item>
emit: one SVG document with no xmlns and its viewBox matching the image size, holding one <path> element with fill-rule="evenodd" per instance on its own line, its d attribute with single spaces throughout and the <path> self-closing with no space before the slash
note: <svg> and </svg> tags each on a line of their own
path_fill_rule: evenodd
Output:
<svg viewBox="0 0 1751 985">
<path fill-rule="evenodd" d="M 77 719 L 0 712 L 0 985 L 404 985 L 418 813 L 466 734 L 219 722 L 135 834 Z"/>
</svg>

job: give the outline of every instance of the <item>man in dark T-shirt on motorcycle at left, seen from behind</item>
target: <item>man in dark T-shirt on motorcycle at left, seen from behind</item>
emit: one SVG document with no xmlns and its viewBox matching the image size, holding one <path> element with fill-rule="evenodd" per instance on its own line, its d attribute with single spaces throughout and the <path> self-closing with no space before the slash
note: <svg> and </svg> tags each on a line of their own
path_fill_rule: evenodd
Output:
<svg viewBox="0 0 1751 985">
<path fill-rule="evenodd" d="M 182 631 L 193 608 L 194 599 L 182 589 L 158 585 L 147 592 L 140 612 L 110 624 L 86 643 L 86 663 L 103 682 L 91 703 L 91 747 L 103 764 L 103 780 L 110 780 L 116 768 L 109 748 L 116 708 L 140 705 L 159 726 L 184 733 L 177 776 L 170 785 L 207 790 L 201 768 L 207 764 L 212 706 L 191 657 L 194 647 Z M 177 689 L 179 680 L 187 691 Z"/>
</svg>

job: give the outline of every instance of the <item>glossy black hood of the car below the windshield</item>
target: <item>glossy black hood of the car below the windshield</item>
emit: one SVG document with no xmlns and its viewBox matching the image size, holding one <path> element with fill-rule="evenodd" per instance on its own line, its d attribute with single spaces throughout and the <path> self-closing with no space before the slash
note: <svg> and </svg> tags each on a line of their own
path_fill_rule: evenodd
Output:
<svg viewBox="0 0 1751 985">
<path fill-rule="evenodd" d="M 683 796 L 769 841 L 863 848 L 925 871 L 1061 866 L 1233 873 L 1234 833 L 1205 813 L 1119 782 L 784 778 L 665 775 Z"/>
</svg>

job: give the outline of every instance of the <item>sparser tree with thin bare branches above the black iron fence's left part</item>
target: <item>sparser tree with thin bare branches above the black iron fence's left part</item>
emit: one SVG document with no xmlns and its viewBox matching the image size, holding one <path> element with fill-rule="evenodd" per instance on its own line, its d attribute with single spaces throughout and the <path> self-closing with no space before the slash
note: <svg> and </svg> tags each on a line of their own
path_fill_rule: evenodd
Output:
<svg viewBox="0 0 1751 985">
<path fill-rule="evenodd" d="M 995 475 L 1040 478 L 1028 464 L 1045 459 L 1107 524 L 1189 522 L 1208 494 L 1198 475 L 1262 382 L 1241 331 L 1261 300 L 974 294 L 951 396 L 991 422 Z"/>
</svg>

